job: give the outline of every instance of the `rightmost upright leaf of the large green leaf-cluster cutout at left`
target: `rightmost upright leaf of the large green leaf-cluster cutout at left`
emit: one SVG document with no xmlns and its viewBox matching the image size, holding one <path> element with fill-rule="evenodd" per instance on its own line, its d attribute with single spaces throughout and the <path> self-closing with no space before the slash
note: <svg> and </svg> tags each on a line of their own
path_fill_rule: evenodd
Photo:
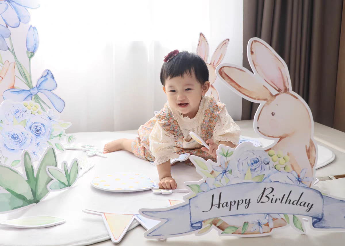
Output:
<svg viewBox="0 0 345 246">
<path fill-rule="evenodd" d="M 52 147 L 48 147 L 46 150 L 45 155 L 40 161 L 40 166 L 37 170 L 36 178 L 36 198 L 38 200 L 41 200 L 43 197 L 45 197 L 48 194 L 47 185 L 49 182 L 51 182 L 53 179 L 48 175 L 47 173 L 47 167 L 48 166 L 57 166 L 57 160 L 56 160 L 56 153 L 55 150 Z"/>
</svg>

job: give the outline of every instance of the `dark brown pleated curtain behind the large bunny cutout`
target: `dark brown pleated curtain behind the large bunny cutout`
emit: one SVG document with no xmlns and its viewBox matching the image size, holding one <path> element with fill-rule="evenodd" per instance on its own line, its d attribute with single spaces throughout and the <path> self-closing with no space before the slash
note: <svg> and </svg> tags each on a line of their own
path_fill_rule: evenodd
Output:
<svg viewBox="0 0 345 246">
<path fill-rule="evenodd" d="M 311 108 L 314 120 L 334 126 L 343 0 L 244 0 L 243 66 L 248 40 L 266 41 L 286 62 L 292 89 Z M 243 99 L 242 119 L 258 105 Z"/>
</svg>

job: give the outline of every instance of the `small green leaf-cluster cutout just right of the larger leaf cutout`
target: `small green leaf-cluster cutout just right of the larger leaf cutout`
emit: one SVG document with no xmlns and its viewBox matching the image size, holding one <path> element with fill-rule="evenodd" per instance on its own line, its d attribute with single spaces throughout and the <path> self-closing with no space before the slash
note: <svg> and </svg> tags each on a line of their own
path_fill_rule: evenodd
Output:
<svg viewBox="0 0 345 246">
<path fill-rule="evenodd" d="M 48 175 L 53 179 L 48 184 L 49 191 L 62 191 L 70 188 L 77 182 L 79 176 L 78 159 L 72 160 L 70 165 L 66 161 L 61 164 L 61 169 L 57 167 L 47 167 Z"/>
</svg>

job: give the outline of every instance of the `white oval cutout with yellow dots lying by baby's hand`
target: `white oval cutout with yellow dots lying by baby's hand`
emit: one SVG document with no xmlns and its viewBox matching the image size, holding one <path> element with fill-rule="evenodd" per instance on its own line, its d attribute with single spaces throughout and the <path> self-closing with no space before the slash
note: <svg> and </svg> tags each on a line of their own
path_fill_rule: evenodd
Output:
<svg viewBox="0 0 345 246">
<path fill-rule="evenodd" d="M 149 177 L 139 173 L 112 173 L 98 175 L 91 180 L 97 189 L 111 192 L 135 192 L 159 189 Z"/>
</svg>

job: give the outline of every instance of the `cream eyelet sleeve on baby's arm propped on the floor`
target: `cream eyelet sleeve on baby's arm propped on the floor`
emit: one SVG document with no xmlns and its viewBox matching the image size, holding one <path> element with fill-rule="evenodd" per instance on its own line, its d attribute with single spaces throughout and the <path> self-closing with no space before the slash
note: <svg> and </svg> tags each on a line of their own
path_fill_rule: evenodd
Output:
<svg viewBox="0 0 345 246">
<path fill-rule="evenodd" d="M 157 121 L 149 137 L 150 151 L 155 157 L 154 165 L 162 164 L 179 155 L 174 153 L 175 136 L 162 128 Z"/>
</svg>

